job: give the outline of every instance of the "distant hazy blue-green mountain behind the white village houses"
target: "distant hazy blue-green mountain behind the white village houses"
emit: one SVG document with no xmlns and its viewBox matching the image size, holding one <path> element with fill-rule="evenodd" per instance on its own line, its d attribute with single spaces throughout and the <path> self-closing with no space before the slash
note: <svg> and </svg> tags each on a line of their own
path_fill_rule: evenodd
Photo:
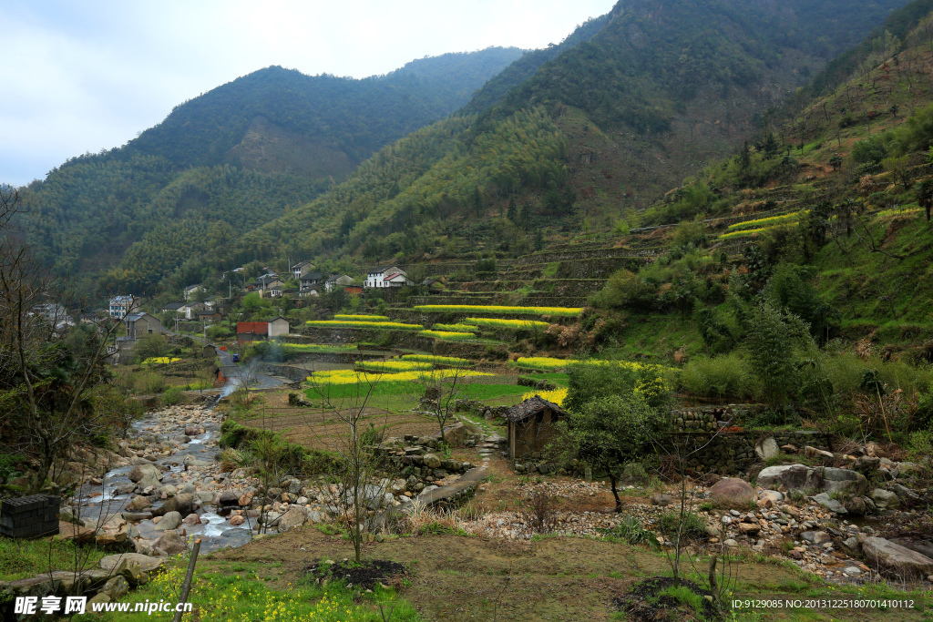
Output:
<svg viewBox="0 0 933 622">
<path fill-rule="evenodd" d="M 132 287 L 149 287 L 212 225 L 226 223 L 226 239 L 312 200 L 521 55 L 445 54 L 362 80 L 261 69 L 177 105 L 127 145 L 52 170 L 28 187 L 23 225 L 43 260 L 85 285 L 146 236 L 176 240 L 173 252 L 131 254 Z"/>
</svg>

